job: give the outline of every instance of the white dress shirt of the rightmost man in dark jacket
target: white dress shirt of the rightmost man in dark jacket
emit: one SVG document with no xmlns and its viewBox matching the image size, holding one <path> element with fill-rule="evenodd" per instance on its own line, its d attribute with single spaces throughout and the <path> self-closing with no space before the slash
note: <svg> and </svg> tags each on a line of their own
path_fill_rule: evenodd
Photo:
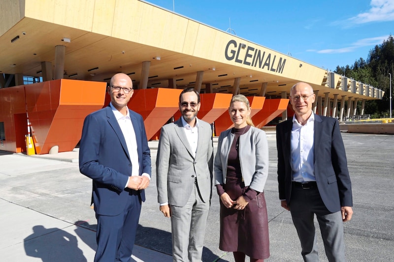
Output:
<svg viewBox="0 0 394 262">
<path fill-rule="evenodd" d="M 314 122 L 315 115 L 313 112 L 304 125 L 301 125 L 297 121 L 296 116 L 293 116 L 291 136 L 292 181 L 316 181 L 313 164 Z"/>
</svg>

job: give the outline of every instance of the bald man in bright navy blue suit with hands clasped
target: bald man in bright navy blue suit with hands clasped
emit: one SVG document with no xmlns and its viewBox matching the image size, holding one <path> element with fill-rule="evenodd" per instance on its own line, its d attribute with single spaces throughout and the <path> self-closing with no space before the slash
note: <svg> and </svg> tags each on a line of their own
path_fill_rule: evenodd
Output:
<svg viewBox="0 0 394 262">
<path fill-rule="evenodd" d="M 97 218 L 95 262 L 129 262 L 151 156 L 142 116 L 127 103 L 133 94 L 126 74 L 111 78 L 110 104 L 87 116 L 79 147 L 79 170 L 93 179 Z"/>
</svg>

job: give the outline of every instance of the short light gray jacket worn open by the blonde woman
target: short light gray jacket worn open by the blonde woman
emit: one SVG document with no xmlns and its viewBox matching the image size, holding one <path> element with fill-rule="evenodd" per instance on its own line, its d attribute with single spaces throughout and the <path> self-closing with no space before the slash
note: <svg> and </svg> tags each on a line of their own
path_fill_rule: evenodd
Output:
<svg viewBox="0 0 394 262">
<path fill-rule="evenodd" d="M 219 136 L 214 164 L 215 185 L 226 184 L 227 161 L 234 137 L 231 129 Z M 239 162 L 245 186 L 263 192 L 268 177 L 268 142 L 263 130 L 252 126 L 239 137 Z"/>
</svg>

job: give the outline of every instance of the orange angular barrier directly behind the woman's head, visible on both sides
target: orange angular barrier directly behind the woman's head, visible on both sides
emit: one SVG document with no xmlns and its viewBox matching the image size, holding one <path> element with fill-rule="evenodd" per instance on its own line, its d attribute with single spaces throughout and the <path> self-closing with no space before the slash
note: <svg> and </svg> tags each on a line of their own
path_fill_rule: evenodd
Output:
<svg viewBox="0 0 394 262">
<path fill-rule="evenodd" d="M 265 97 L 263 96 L 248 96 L 249 104 L 251 107 L 250 116 L 253 117 L 263 109 Z M 230 105 L 230 102 L 229 102 Z M 229 112 L 226 111 L 215 121 L 215 135 L 219 136 L 221 132 L 233 127 L 234 124 L 230 119 Z"/>
</svg>

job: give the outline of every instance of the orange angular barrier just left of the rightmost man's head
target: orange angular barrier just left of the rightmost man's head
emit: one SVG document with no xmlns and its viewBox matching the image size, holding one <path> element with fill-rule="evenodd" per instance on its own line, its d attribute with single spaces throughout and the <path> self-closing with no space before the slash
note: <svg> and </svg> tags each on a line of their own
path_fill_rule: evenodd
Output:
<svg viewBox="0 0 394 262">
<path fill-rule="evenodd" d="M 287 109 L 289 99 L 266 99 L 263 110 L 252 117 L 252 121 L 257 128 L 262 128 L 269 121 Z"/>
</svg>

